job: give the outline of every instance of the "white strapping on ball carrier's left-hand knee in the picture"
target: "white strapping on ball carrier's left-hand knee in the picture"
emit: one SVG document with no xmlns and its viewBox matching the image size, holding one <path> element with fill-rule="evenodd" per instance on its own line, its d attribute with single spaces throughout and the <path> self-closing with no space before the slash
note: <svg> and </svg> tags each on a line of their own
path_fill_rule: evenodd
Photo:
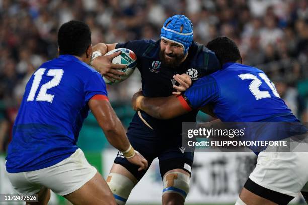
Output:
<svg viewBox="0 0 308 205">
<path fill-rule="evenodd" d="M 134 183 L 122 174 L 109 173 L 107 184 L 116 199 L 117 204 L 125 205 Z"/>
</svg>

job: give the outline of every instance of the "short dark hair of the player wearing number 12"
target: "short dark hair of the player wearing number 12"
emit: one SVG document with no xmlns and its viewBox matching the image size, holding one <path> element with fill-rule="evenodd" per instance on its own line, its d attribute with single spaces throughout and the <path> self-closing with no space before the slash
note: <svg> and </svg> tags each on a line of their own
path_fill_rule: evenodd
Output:
<svg viewBox="0 0 308 205">
<path fill-rule="evenodd" d="M 74 20 L 64 23 L 58 32 L 58 45 L 60 55 L 82 56 L 91 45 L 89 26 Z"/>
</svg>

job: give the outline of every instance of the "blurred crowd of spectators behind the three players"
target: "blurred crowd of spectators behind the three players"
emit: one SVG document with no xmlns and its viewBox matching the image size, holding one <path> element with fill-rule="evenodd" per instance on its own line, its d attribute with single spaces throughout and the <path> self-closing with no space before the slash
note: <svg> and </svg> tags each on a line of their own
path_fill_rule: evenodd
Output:
<svg viewBox="0 0 308 205">
<path fill-rule="evenodd" d="M 92 44 L 158 39 L 166 18 L 188 16 L 194 40 L 228 36 L 245 64 L 263 69 L 293 113 L 307 122 L 308 0 L 0 0 L 0 151 L 10 139 L 25 84 L 57 56 L 57 30 L 85 21 Z M 108 86 L 111 101 L 130 102 L 132 79 Z"/>
</svg>

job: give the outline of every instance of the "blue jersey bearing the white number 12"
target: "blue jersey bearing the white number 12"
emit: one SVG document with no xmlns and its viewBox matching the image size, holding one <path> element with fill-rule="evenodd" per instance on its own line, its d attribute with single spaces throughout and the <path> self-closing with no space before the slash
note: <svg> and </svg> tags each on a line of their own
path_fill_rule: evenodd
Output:
<svg viewBox="0 0 308 205">
<path fill-rule="evenodd" d="M 107 96 L 102 76 L 76 57 L 60 55 L 42 64 L 26 85 L 8 147 L 7 171 L 46 168 L 74 153 L 88 101 L 96 94 Z"/>
</svg>

